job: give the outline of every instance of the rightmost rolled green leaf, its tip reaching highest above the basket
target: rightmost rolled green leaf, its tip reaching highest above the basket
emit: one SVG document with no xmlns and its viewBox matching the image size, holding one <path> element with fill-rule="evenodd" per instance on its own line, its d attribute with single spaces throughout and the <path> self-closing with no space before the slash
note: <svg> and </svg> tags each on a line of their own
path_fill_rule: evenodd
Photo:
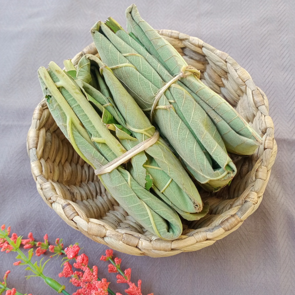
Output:
<svg viewBox="0 0 295 295">
<path fill-rule="evenodd" d="M 158 32 L 139 15 L 132 4 L 126 10 L 127 28 L 173 76 L 187 63 Z M 233 109 L 227 101 L 193 76 L 181 79 L 186 89 L 191 91 L 198 104 L 207 112 L 216 125 L 227 151 L 240 155 L 251 155 L 261 143 L 261 137 Z"/>
</svg>

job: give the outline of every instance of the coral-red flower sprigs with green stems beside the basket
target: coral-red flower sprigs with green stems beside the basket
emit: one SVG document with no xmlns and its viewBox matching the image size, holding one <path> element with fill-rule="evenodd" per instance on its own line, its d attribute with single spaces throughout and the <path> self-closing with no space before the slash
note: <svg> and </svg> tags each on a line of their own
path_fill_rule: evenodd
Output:
<svg viewBox="0 0 295 295">
<path fill-rule="evenodd" d="M 109 284 L 106 278 L 100 279 L 98 277 L 98 267 L 93 266 L 92 268 L 88 265 L 89 258 L 86 254 L 82 253 L 79 255 L 80 247 L 76 243 L 74 245 L 70 245 L 63 250 L 63 243 L 62 239 L 56 239 L 55 245 L 49 245 L 48 242 L 48 235 L 46 234 L 43 239 L 44 242 L 35 241 L 32 232 L 29 233 L 27 239 L 22 239 L 22 236 L 18 236 L 16 233 L 12 233 L 9 237 L 11 232 L 10 227 L 6 229 L 5 225 L 1 226 L 0 229 L 0 248 L 2 252 L 9 253 L 11 251 L 17 252 L 17 259 L 20 259 L 14 262 L 15 266 L 18 265 L 27 265 L 26 270 L 30 270 L 34 273 L 33 276 L 41 277 L 47 285 L 49 285 L 52 289 L 57 291 L 58 293 L 63 293 L 65 295 L 70 295 L 68 292 L 65 291 L 65 286 L 61 285 L 53 278 L 47 277 L 43 274 L 43 269 L 45 264 L 49 261 L 45 261 L 42 264 L 41 259 L 39 265 L 37 261 L 32 263 L 32 256 L 34 254 L 33 247 L 36 246 L 37 249 L 35 250 L 36 256 L 40 256 L 45 254 L 47 250 L 51 253 L 55 253 L 55 255 L 66 255 L 66 261 L 63 263 L 63 271 L 59 273 L 59 277 L 70 278 L 70 282 L 78 287 L 76 292 L 73 295 L 115 295 L 115 293 L 109 289 Z M 28 255 L 25 255 L 20 246 L 23 245 L 24 249 L 29 249 Z M 52 257 L 50 256 L 50 258 Z M 135 283 L 131 281 L 131 268 L 125 269 L 123 272 L 121 270 L 121 258 L 115 257 L 113 259 L 113 250 L 109 249 L 106 250 L 106 255 L 102 255 L 101 260 L 109 261 L 110 264 L 108 265 L 109 273 L 118 273 L 117 274 L 117 283 L 127 283 L 129 288 L 125 290 L 128 295 L 142 295 L 141 292 L 141 280 L 138 280 L 137 286 Z M 70 260 L 73 260 L 73 265 L 70 264 Z M 76 270 L 73 270 L 73 267 Z M 6 286 L 6 278 L 10 271 L 7 271 L 4 275 L 4 282 L 0 282 L 0 294 L 6 291 L 5 295 L 22 295 L 16 291 L 15 288 L 9 289 Z M 32 275 L 31 275 L 32 276 Z M 30 277 L 30 276 L 28 276 Z M 31 294 L 29 294 L 31 295 Z M 116 293 L 116 295 L 122 295 L 121 293 Z M 153 293 L 148 294 L 153 295 Z"/>
</svg>

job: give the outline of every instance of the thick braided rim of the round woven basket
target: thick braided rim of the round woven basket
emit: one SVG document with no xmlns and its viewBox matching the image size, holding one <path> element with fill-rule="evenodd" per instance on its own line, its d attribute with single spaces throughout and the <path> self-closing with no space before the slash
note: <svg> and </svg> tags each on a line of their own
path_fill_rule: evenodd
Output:
<svg viewBox="0 0 295 295">
<path fill-rule="evenodd" d="M 70 200 L 63 199 L 55 189 L 56 181 L 47 179 L 44 176 L 44 169 L 40 162 L 37 149 L 40 148 L 39 130 L 45 124 L 45 112 L 47 108 L 46 102 L 43 99 L 36 107 L 32 125 L 27 136 L 27 150 L 31 160 L 31 169 L 33 177 L 36 181 L 37 189 L 44 199 L 44 201 L 58 213 L 71 227 L 81 231 L 84 235 L 92 240 L 107 244 L 109 247 L 119 250 L 120 252 L 132 255 L 148 255 L 152 257 L 170 256 L 184 251 L 194 251 L 212 245 L 216 240 L 225 237 L 231 232 L 237 230 L 243 221 L 250 216 L 259 206 L 263 193 L 268 182 L 271 167 L 276 157 L 277 147 L 274 140 L 273 122 L 268 115 L 268 100 L 266 95 L 258 87 L 255 86 L 249 73 L 240 67 L 235 60 L 228 54 L 217 50 L 211 45 L 203 42 L 197 37 L 190 37 L 189 35 L 179 33 L 171 30 L 159 30 L 160 35 L 165 37 L 174 47 L 189 48 L 195 52 L 202 54 L 207 58 L 209 64 L 216 64 L 219 71 L 225 71 L 228 65 L 235 70 L 236 76 L 242 81 L 253 99 L 255 109 L 257 109 L 256 116 L 263 118 L 263 127 L 265 133 L 263 136 L 263 143 L 259 148 L 260 157 L 257 160 L 252 171 L 253 181 L 239 197 L 240 203 L 233 206 L 231 214 L 222 216 L 220 222 L 214 226 L 201 227 L 199 229 L 188 232 L 186 235 L 181 235 L 178 239 L 167 241 L 160 238 L 150 239 L 148 237 L 141 237 L 135 232 L 120 232 L 114 230 L 109 226 L 105 226 L 102 222 L 97 223 L 97 219 L 81 217 L 78 213 L 74 216 L 67 216 L 63 210 L 66 206 L 72 206 Z M 73 63 L 77 64 L 78 60 L 85 54 L 96 54 L 94 43 L 85 47 L 73 59 Z M 229 73 L 230 70 L 227 70 Z M 247 96 L 248 97 L 248 96 Z M 47 116 L 48 117 L 48 116 Z M 47 118 L 48 119 L 48 118 Z M 253 168 L 253 169 L 254 169 Z M 249 171 L 250 172 L 250 171 Z M 242 201 L 242 203 L 241 203 Z M 63 207 L 63 208 L 62 208 Z M 57 210 L 58 208 L 59 210 Z M 61 209 L 62 208 L 62 209 Z M 230 211 L 230 210 L 228 210 Z"/>
</svg>

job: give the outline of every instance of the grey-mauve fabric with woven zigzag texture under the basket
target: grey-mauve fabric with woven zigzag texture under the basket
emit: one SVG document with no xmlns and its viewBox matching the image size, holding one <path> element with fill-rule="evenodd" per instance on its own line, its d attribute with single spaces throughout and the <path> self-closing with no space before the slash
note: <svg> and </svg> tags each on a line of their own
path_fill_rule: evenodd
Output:
<svg viewBox="0 0 295 295">
<path fill-rule="evenodd" d="M 36 240 L 45 233 L 54 243 L 79 242 L 101 277 L 112 278 L 99 261 L 106 246 L 69 227 L 39 196 L 26 151 L 32 112 L 42 97 L 40 65 L 62 65 L 91 43 L 89 30 L 112 15 L 125 26 L 130 1 L 0 1 L 0 225 Z M 275 125 L 278 155 L 257 211 L 235 232 L 212 246 L 168 258 L 117 253 L 132 279 L 142 279 L 143 294 L 294 294 L 294 66 L 295 2 L 289 1 L 136 1 L 154 28 L 199 37 L 229 53 L 267 95 Z M 19 292 L 56 294 L 40 278 L 25 280 L 14 253 L 0 253 L 0 277 Z M 48 255 L 47 255 L 48 257 Z M 58 278 L 60 261 L 45 274 Z M 75 289 L 67 279 L 59 279 Z"/>
</svg>

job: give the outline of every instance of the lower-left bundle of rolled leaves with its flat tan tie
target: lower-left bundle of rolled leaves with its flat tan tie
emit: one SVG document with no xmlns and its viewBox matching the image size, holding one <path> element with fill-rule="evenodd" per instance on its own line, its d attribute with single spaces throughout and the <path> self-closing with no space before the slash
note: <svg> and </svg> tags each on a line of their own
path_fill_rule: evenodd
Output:
<svg viewBox="0 0 295 295">
<path fill-rule="evenodd" d="M 69 67 L 69 62 L 65 65 Z M 104 78 L 99 90 L 91 86 L 91 68 Z M 189 220 L 207 214 L 208 208 L 202 210 L 199 193 L 181 163 L 101 60 L 85 55 L 77 70 L 68 71 L 50 62 L 48 69 L 39 68 L 38 76 L 63 134 L 120 206 L 142 226 L 162 239 L 173 240 L 182 231 L 176 212 Z M 106 91 L 112 99 L 104 96 Z M 130 158 L 130 165 L 122 167 Z"/>
</svg>

